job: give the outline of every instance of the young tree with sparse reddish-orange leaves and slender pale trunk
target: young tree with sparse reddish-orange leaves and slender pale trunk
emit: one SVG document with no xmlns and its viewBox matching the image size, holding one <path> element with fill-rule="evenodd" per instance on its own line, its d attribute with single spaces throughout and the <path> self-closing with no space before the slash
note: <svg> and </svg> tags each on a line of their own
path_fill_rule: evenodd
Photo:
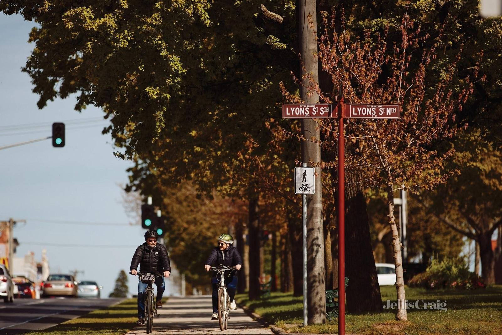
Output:
<svg viewBox="0 0 502 335">
<path fill-rule="evenodd" d="M 405 290 L 401 244 L 394 216 L 394 191 L 405 188 L 417 191 L 433 188 L 452 174 L 445 171 L 445 161 L 453 150 L 438 152 L 431 145 L 451 138 L 457 131 L 453 125 L 455 113 L 461 109 L 472 91 L 470 77 L 462 86 L 457 83 L 456 62 L 452 62 L 439 78 L 427 76 L 427 69 L 436 58 L 436 47 L 441 40 L 429 41 L 420 27 L 405 14 L 400 32 L 400 43 L 388 45 L 389 26 L 382 32 L 362 38 L 339 29 L 334 14 L 323 13 L 324 34 L 319 38 L 319 61 L 332 81 L 333 87 L 342 88 L 345 103 L 399 104 L 398 120 L 348 120 L 345 135 L 349 138 L 346 160 L 348 169 L 363 172 L 364 183 L 382 188 L 387 193 L 389 225 L 396 264 L 396 289 L 399 300 L 404 301 Z M 343 27 L 343 22 L 341 24 Z M 419 55 L 420 60 L 412 62 Z M 479 55 L 480 57 L 481 55 Z M 458 57 L 457 57 L 458 61 Z M 432 87 L 432 89 L 431 89 Z M 326 102 L 337 100 L 338 92 L 321 92 Z M 327 139 L 324 145 L 336 148 L 329 135 L 337 133 L 331 122 L 321 124 Z M 332 162 L 331 164 L 334 164 Z M 398 308 L 396 318 L 406 320 L 406 309 Z"/>
</svg>

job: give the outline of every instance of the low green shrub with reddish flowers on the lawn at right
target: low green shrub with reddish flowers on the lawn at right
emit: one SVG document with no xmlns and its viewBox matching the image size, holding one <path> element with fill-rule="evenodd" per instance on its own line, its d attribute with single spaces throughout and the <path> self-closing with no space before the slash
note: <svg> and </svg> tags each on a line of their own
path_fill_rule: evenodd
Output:
<svg viewBox="0 0 502 335">
<path fill-rule="evenodd" d="M 419 273 L 410 281 L 411 287 L 427 289 L 456 288 L 473 290 L 486 287 L 483 279 L 473 272 L 469 272 L 462 259 L 433 259 L 424 273 Z"/>
</svg>

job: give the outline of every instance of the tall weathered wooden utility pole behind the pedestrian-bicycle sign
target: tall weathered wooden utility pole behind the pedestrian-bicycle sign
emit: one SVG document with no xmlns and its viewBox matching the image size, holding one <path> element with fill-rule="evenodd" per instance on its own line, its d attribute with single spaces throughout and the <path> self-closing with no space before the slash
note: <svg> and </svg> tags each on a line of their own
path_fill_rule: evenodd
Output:
<svg viewBox="0 0 502 335">
<path fill-rule="evenodd" d="M 316 0 L 299 0 L 297 6 L 298 39 L 300 41 L 300 56 L 305 71 L 316 83 L 319 82 L 316 30 L 317 11 Z M 313 27 L 313 28 L 312 28 Z M 302 73 L 303 74 L 303 73 Z M 319 102 L 319 95 L 308 89 L 314 83 L 308 77 L 303 79 L 300 95 L 305 104 Z M 301 132 L 305 138 L 302 141 L 302 162 L 309 164 L 321 163 L 320 129 L 316 120 L 302 119 Z M 326 301 L 324 282 L 324 231 L 322 222 L 322 183 L 321 167 L 315 167 L 314 183 L 319 191 L 306 195 L 307 198 L 307 320 L 308 324 L 326 322 Z"/>
</svg>

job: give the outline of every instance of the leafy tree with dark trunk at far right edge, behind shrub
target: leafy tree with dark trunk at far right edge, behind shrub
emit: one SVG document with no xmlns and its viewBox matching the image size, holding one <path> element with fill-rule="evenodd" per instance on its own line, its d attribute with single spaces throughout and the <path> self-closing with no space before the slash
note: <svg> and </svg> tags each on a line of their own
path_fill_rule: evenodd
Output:
<svg viewBox="0 0 502 335">
<path fill-rule="evenodd" d="M 423 195 L 420 203 L 446 227 L 475 240 L 481 257 L 481 276 L 495 282 L 491 237 L 502 227 L 502 154 L 479 129 L 462 133 L 448 165 L 459 171 L 445 185 Z M 496 256 L 496 257 L 495 257 Z"/>
</svg>

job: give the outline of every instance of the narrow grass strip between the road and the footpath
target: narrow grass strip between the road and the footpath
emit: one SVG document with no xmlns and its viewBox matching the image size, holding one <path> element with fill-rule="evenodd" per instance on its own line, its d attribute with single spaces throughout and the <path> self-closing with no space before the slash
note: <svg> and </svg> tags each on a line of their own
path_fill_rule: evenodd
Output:
<svg viewBox="0 0 502 335">
<path fill-rule="evenodd" d="M 131 330 L 136 325 L 137 320 L 137 299 L 133 298 L 111 307 L 94 310 L 54 327 L 30 332 L 27 335 L 122 335 Z"/>
</svg>

